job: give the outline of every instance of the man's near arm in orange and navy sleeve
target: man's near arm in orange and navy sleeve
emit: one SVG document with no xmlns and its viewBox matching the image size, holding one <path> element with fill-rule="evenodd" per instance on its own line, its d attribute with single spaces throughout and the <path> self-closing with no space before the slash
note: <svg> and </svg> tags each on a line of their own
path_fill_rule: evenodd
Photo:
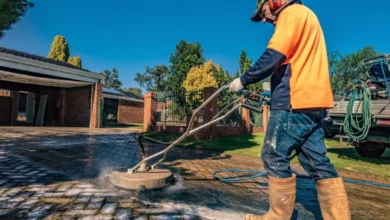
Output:
<svg viewBox="0 0 390 220">
<path fill-rule="evenodd" d="M 243 86 L 268 78 L 280 65 L 289 60 L 300 39 L 302 32 L 300 23 L 299 18 L 293 14 L 288 12 L 281 14 L 267 50 L 253 67 L 240 77 Z"/>
</svg>

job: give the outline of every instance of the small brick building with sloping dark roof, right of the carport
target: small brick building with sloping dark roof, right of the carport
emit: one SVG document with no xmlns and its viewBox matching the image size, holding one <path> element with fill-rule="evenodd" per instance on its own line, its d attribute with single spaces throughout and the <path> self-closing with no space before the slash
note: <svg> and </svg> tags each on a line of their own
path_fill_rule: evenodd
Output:
<svg viewBox="0 0 390 220">
<path fill-rule="evenodd" d="M 124 94 L 115 89 L 103 89 L 103 118 L 105 122 L 119 124 L 142 124 L 144 121 L 144 98 Z"/>
</svg>

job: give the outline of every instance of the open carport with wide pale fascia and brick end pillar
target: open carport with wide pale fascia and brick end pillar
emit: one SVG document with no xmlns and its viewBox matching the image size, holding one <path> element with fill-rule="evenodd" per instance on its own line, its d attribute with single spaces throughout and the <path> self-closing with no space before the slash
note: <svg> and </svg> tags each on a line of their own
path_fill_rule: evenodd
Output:
<svg viewBox="0 0 390 220">
<path fill-rule="evenodd" d="M 103 78 L 0 47 L 0 125 L 100 127 Z"/>
</svg>

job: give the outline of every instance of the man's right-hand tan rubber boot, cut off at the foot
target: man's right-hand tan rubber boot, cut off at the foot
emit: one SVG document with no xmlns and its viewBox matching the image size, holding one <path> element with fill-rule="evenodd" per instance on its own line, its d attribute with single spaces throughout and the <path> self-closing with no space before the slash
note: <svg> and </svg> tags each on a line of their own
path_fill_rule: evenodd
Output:
<svg viewBox="0 0 390 220">
<path fill-rule="evenodd" d="M 319 180 L 316 185 L 324 220 L 350 220 L 351 212 L 342 178 Z"/>
</svg>

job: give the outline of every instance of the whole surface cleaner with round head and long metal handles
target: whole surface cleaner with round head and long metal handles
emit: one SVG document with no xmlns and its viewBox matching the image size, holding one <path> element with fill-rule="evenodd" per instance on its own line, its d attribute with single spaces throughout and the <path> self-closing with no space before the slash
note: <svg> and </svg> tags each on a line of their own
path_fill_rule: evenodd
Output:
<svg viewBox="0 0 390 220">
<path fill-rule="evenodd" d="M 237 98 L 230 104 L 228 104 L 225 108 L 223 108 L 214 118 L 212 118 L 211 121 L 208 123 L 201 125 L 197 128 L 192 128 L 192 124 L 194 122 L 195 116 L 199 113 L 201 109 L 203 109 L 207 104 L 209 104 L 213 99 L 217 98 L 217 96 L 222 93 L 227 91 L 229 88 L 229 85 L 225 85 L 218 89 L 213 95 L 211 95 L 204 103 L 202 103 L 198 108 L 195 109 L 195 111 L 192 114 L 192 117 L 189 122 L 189 126 L 187 127 L 186 132 L 180 136 L 177 140 L 175 140 L 172 143 L 169 143 L 169 146 L 165 148 L 164 150 L 151 155 L 147 158 L 143 158 L 141 162 L 136 164 L 133 168 L 131 169 L 120 169 L 120 170 L 115 170 L 111 174 L 111 183 L 114 186 L 117 186 L 119 188 L 125 188 L 125 189 L 131 189 L 131 190 L 136 190 L 139 189 L 140 187 L 144 189 L 157 189 L 157 188 L 163 188 L 167 185 L 170 185 L 173 180 L 173 174 L 170 170 L 168 169 L 157 169 L 157 165 L 162 163 L 167 156 L 167 153 L 175 147 L 177 144 L 182 142 L 185 138 L 188 136 L 191 136 L 200 130 L 211 126 L 212 124 L 215 124 L 223 119 L 225 119 L 228 115 L 233 113 L 235 110 L 237 110 L 240 107 L 244 107 L 247 109 L 250 109 L 252 111 L 256 112 L 262 112 L 262 104 L 265 100 L 268 100 L 268 97 L 265 97 L 263 94 L 255 94 L 250 91 L 245 91 L 242 90 L 239 92 L 239 95 L 241 97 Z M 258 106 L 254 106 L 253 102 L 249 102 L 249 100 L 256 100 L 258 103 Z M 231 109 L 229 109 L 231 107 Z M 229 110 L 228 110 L 229 109 Z M 225 113 L 226 111 L 226 113 Z M 223 114 L 224 113 L 224 114 Z M 142 138 L 142 135 L 141 135 Z M 141 142 L 139 140 L 139 142 Z M 155 141 L 156 142 L 156 141 Z M 141 144 L 141 147 L 143 145 Z M 143 149 L 143 154 L 144 154 L 144 149 Z M 160 160 L 158 160 L 156 163 L 154 163 L 151 166 L 147 166 L 147 162 L 159 157 L 163 156 Z"/>
</svg>

